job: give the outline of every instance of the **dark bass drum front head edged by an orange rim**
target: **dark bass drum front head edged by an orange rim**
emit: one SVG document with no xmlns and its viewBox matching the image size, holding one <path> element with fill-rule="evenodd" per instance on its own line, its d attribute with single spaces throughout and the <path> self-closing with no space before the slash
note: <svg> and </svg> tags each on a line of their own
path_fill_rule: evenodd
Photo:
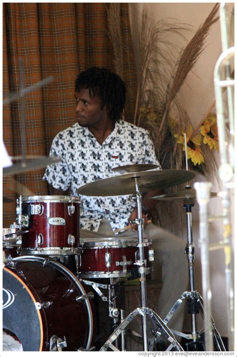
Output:
<svg viewBox="0 0 237 357">
<path fill-rule="evenodd" d="M 42 350 L 42 319 L 35 297 L 20 277 L 3 269 L 2 327 L 19 339 L 24 351 Z"/>
</svg>

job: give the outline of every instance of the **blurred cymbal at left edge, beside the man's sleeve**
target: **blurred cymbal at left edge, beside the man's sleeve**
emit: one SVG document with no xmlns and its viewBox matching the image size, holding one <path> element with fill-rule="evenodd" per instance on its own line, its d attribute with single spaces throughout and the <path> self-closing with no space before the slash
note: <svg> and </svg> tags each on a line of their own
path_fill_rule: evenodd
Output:
<svg viewBox="0 0 237 357">
<path fill-rule="evenodd" d="M 4 167 L 2 169 L 2 172 L 3 172 L 3 176 L 14 175 L 16 173 L 31 171 L 31 170 L 34 170 L 37 168 L 42 168 L 47 165 L 56 163 L 58 161 L 60 161 L 60 159 L 57 157 L 43 156 L 43 157 L 37 158 L 36 160 L 31 160 L 31 161 L 27 161 L 27 162 L 19 162 L 19 163 L 15 163 L 11 166 Z"/>
</svg>

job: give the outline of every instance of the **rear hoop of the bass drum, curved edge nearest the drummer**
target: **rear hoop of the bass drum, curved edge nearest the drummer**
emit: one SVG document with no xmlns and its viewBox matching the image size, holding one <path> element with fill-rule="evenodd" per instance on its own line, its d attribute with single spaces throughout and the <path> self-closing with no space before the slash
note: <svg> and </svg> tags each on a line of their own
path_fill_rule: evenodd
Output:
<svg viewBox="0 0 237 357">
<path fill-rule="evenodd" d="M 71 281 L 73 281 L 75 283 L 75 285 L 79 288 L 80 292 L 82 295 L 85 295 L 86 296 L 86 292 L 82 286 L 82 284 L 80 283 L 80 281 L 72 274 L 72 272 L 70 270 L 68 270 L 64 265 L 60 264 L 59 262 L 56 262 L 54 260 L 50 260 L 49 258 L 43 258 L 43 257 L 38 257 L 38 256 L 20 256 L 20 257 L 16 257 L 16 258 L 13 258 L 12 259 L 13 261 L 20 261 L 20 260 L 23 260 L 23 261 L 39 261 L 39 262 L 44 262 L 45 260 L 47 260 L 47 263 L 49 265 L 56 265 L 56 266 L 59 266 L 58 270 L 62 273 L 64 273 L 64 275 L 66 275 L 66 277 L 69 276 L 69 279 Z M 88 339 L 87 339 L 87 343 L 86 343 L 86 346 L 85 346 L 85 349 L 88 350 L 89 347 L 90 347 L 90 343 L 91 343 L 91 340 L 92 340 L 92 333 L 93 333 L 93 320 L 92 320 L 92 310 L 91 310 L 91 307 L 90 307 L 90 304 L 88 302 L 88 298 L 86 297 L 85 300 L 85 305 L 86 305 L 86 308 L 87 308 L 87 312 L 88 312 L 88 327 L 89 327 L 89 331 L 88 331 Z"/>
</svg>

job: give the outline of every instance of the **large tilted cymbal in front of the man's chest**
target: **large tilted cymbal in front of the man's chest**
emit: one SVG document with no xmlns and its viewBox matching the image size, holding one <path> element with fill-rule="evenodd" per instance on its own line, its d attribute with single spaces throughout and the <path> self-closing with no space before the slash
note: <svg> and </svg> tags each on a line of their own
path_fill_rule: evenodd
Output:
<svg viewBox="0 0 237 357">
<path fill-rule="evenodd" d="M 85 196 L 119 196 L 135 194 L 135 178 L 141 193 L 183 184 L 195 177 L 186 170 L 157 170 L 133 172 L 103 178 L 81 186 L 77 193 Z"/>
</svg>

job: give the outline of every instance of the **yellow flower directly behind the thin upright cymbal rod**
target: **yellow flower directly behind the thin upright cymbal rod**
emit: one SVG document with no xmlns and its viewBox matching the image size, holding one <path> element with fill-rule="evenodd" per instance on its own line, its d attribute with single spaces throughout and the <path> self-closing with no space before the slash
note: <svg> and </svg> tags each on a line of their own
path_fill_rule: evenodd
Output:
<svg viewBox="0 0 237 357">
<path fill-rule="evenodd" d="M 198 133 L 191 140 L 189 140 L 191 133 L 193 131 L 192 126 L 190 125 L 186 131 L 186 143 L 187 143 L 187 159 L 191 159 L 191 161 L 196 165 L 200 165 L 204 162 L 204 155 L 201 149 L 198 147 L 201 144 L 201 135 Z M 174 134 L 174 137 L 177 137 L 177 134 Z M 183 144 L 182 150 L 185 151 L 185 140 L 184 140 L 184 132 L 182 131 L 181 135 L 177 140 L 178 144 Z"/>
</svg>

